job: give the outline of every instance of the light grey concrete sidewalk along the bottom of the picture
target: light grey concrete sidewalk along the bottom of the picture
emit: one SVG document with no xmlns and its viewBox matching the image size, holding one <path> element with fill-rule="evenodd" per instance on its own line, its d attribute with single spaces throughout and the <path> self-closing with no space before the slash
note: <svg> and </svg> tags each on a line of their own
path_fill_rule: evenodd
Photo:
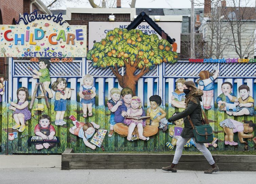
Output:
<svg viewBox="0 0 256 184">
<path fill-rule="evenodd" d="M 0 184 L 255 184 L 256 171 L 159 169 L 79 169 L 61 170 L 61 155 L 0 155 Z M 220 168 L 221 169 L 221 168 Z"/>
</svg>

